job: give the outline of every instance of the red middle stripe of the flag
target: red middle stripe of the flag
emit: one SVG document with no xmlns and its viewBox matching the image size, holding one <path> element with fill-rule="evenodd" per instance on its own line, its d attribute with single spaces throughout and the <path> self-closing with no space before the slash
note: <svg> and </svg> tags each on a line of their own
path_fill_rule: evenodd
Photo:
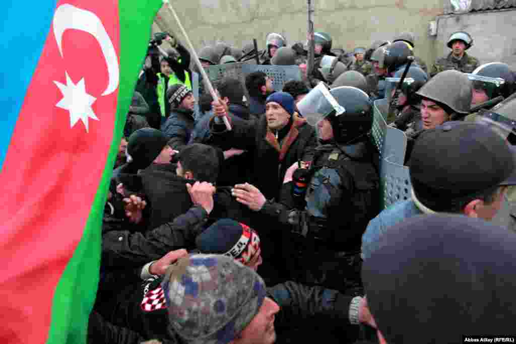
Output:
<svg viewBox="0 0 516 344">
<path fill-rule="evenodd" d="M 60 1 L 57 8 L 63 4 L 99 18 L 115 48 L 111 60 L 119 65 L 118 1 L 68 0 Z M 77 18 L 61 18 L 59 24 L 76 25 Z M 118 86 L 102 95 L 110 79 L 107 62 L 98 31 L 93 32 L 93 24 L 87 26 L 92 32 L 65 30 L 63 56 L 54 29 L 50 30 L 0 172 L 4 184 L 0 203 L 2 342 L 46 340 L 54 291 L 83 236 L 111 145 Z M 88 131 L 82 120 L 71 126 L 70 111 L 56 106 L 63 94 L 54 81 L 72 89 L 66 73 L 77 85 L 69 95 L 73 111 L 84 114 L 87 111 L 80 109 L 87 106 L 80 103 L 91 100 L 87 96 L 80 100 L 80 80 L 84 79 L 84 92 L 96 98 L 91 109 L 99 120 L 88 118 Z"/>
</svg>

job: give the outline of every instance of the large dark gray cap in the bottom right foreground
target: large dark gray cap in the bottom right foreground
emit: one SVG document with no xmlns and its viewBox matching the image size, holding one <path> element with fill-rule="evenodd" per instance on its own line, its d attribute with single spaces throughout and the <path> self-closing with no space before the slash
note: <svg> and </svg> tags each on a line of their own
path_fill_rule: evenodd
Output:
<svg viewBox="0 0 516 344">
<path fill-rule="evenodd" d="M 461 343 L 513 333 L 516 236 L 462 215 L 389 227 L 364 261 L 368 307 L 388 343 Z"/>
</svg>

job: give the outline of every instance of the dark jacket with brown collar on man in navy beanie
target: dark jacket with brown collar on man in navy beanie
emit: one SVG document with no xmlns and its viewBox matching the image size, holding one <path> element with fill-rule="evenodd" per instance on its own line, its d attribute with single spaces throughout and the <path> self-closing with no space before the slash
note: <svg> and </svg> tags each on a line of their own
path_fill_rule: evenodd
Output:
<svg viewBox="0 0 516 344">
<path fill-rule="evenodd" d="M 279 193 L 286 170 L 298 160 L 311 161 L 317 145 L 314 128 L 297 114 L 293 118 L 288 133 L 280 140 L 282 143 L 268 129 L 265 116 L 248 123 L 234 123 L 230 132 L 212 121 L 211 142 L 250 152 L 254 171 L 250 183 L 272 199 Z"/>
</svg>

